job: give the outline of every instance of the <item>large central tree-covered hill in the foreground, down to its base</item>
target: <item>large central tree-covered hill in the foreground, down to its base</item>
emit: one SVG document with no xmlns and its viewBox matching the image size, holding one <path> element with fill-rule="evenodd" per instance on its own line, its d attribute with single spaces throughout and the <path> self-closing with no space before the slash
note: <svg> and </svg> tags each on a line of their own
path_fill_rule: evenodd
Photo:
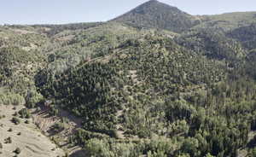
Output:
<svg viewBox="0 0 256 157">
<path fill-rule="evenodd" d="M 251 78 L 246 78 L 247 82 L 242 76 L 233 79 L 236 70 L 230 70 L 227 65 L 225 61 L 212 61 L 185 49 L 165 36 L 148 34 L 129 39 L 108 55 L 81 63 L 67 73 L 51 75 L 45 69 L 38 75 L 44 78 L 38 82 L 38 88 L 45 97 L 54 98 L 52 108 L 61 106 L 84 119 L 84 131 L 74 135 L 74 143 L 84 145 L 87 140 L 94 143 L 99 138 L 104 139 L 98 141 L 102 147 L 107 147 L 108 140 L 113 140 L 119 142 L 119 151 L 122 151 L 128 140 L 135 142 L 129 150 L 135 153 L 132 148 L 138 147 L 137 142 L 141 147 L 150 148 L 154 143 L 147 143 L 148 139 L 170 144 L 183 137 L 184 141 L 172 143 L 175 148 L 162 152 L 177 155 L 187 151 L 183 144 L 191 140 L 199 142 L 200 136 L 200 140 L 210 142 L 204 144 L 207 150 L 201 149 L 202 145 L 196 146 L 199 156 L 206 154 L 203 151 L 235 155 L 236 149 L 247 143 L 246 135 L 253 131 L 245 129 L 254 127 L 246 125 L 251 124 L 249 119 L 242 124 L 238 119 L 247 119 L 254 112 L 255 85 Z M 47 73 L 49 76 L 45 77 Z M 242 94 L 244 92 L 247 95 Z M 233 101 L 239 105 L 235 107 Z M 241 111 L 247 114 L 234 114 L 239 112 L 240 105 L 247 106 L 247 110 Z M 230 120 L 236 122 L 230 124 Z M 237 128 L 238 125 L 241 128 Z M 202 130 L 206 135 L 201 134 Z M 230 130 L 245 137 L 228 133 Z M 217 135 L 207 136 L 207 133 L 214 135 L 215 131 L 228 131 L 221 136 L 231 141 L 230 136 L 236 136 L 236 140 L 214 150 L 211 142 L 224 142 Z M 91 155 L 95 153 L 90 151 Z M 117 153 L 110 148 L 108 151 Z M 144 151 L 139 149 L 135 156 L 143 155 Z"/>
</svg>

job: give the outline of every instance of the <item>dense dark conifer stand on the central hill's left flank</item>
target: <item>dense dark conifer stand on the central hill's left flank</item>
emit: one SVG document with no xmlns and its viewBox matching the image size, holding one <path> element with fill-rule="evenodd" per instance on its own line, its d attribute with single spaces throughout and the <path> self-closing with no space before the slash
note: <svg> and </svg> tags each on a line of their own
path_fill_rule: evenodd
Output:
<svg viewBox="0 0 256 157">
<path fill-rule="evenodd" d="M 97 73 L 95 73 L 96 71 Z M 86 115 L 84 118 L 88 121 L 95 120 L 94 123 L 84 124 L 84 127 L 88 130 L 105 131 L 107 129 L 106 125 L 110 129 L 113 127 L 110 123 L 113 118 L 110 116 L 115 108 L 107 108 L 106 105 L 106 108 L 104 108 L 103 105 L 105 103 L 113 104 L 113 107 L 116 105 L 108 98 L 109 83 L 114 82 L 114 80 L 111 80 L 114 74 L 115 72 L 109 66 L 96 63 L 93 66 L 74 69 L 67 73 L 67 77 L 61 77 L 54 84 L 45 84 L 41 89 L 48 88 L 48 90 L 42 92 L 44 94 L 49 93 L 51 96 L 58 96 L 61 103 L 65 104 L 65 108 L 69 108 L 73 113 Z M 69 78 L 71 76 L 73 76 L 72 79 Z M 100 76 L 105 77 L 101 78 Z M 76 80 L 75 84 L 73 84 L 74 80 Z M 72 92 L 74 92 L 73 95 L 70 95 Z M 101 120 L 105 120 L 105 123 L 96 121 L 98 116 L 102 117 Z"/>
</svg>

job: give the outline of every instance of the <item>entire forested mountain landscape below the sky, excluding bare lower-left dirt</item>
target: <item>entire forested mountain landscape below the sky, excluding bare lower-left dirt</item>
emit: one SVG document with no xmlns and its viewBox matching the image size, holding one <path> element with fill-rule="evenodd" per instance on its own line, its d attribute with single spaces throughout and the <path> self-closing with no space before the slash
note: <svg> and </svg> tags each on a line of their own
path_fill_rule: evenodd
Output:
<svg viewBox="0 0 256 157">
<path fill-rule="evenodd" d="M 254 157 L 255 18 L 151 0 L 108 22 L 0 26 L 0 104 L 83 119 L 69 144 L 88 156 Z"/>
</svg>

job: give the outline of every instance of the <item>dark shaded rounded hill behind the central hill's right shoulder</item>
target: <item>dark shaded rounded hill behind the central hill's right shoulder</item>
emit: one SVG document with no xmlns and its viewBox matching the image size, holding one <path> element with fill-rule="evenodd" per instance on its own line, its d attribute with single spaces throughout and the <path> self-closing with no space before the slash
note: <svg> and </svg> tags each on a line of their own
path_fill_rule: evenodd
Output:
<svg viewBox="0 0 256 157">
<path fill-rule="evenodd" d="M 187 49 L 216 60 L 236 61 L 247 54 L 235 39 L 227 38 L 224 32 L 212 28 L 184 32 L 175 40 Z"/>
</svg>

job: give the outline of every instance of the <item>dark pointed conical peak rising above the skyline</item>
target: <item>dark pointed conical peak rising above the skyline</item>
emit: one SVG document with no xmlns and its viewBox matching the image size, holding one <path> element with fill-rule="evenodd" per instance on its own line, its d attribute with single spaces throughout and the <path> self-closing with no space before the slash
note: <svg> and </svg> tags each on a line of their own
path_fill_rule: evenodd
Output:
<svg viewBox="0 0 256 157">
<path fill-rule="evenodd" d="M 154 27 L 172 32 L 183 32 L 200 23 L 200 20 L 194 16 L 156 0 L 143 3 L 113 20 L 132 26 Z"/>
</svg>

